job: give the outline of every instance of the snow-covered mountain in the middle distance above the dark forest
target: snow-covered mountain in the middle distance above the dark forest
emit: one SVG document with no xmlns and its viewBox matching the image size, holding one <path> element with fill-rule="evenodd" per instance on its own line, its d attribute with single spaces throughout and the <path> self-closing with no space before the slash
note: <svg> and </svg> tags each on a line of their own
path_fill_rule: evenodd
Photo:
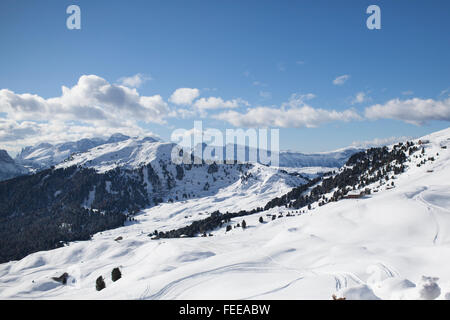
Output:
<svg viewBox="0 0 450 320">
<path fill-rule="evenodd" d="M 147 193 L 151 198 L 162 198 L 164 202 L 217 195 L 224 190 L 236 197 L 259 194 L 270 197 L 307 181 L 302 175 L 258 163 L 180 165 L 172 161 L 173 150 L 178 150 L 173 143 L 147 138 L 127 139 L 75 154 L 58 164 L 56 169 L 82 166 L 100 174 L 114 169 L 142 170 Z M 191 158 L 188 153 L 184 156 Z M 249 202 L 252 205 L 257 203 L 250 199 Z M 238 208 L 235 204 L 233 202 L 233 209 Z M 240 208 L 249 206 L 241 204 Z"/>
</svg>

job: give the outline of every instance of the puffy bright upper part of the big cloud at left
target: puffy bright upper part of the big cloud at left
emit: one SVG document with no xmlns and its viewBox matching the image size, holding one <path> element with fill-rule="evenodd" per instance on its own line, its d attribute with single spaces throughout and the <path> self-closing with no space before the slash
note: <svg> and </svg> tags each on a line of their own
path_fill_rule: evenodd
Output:
<svg viewBox="0 0 450 320">
<path fill-rule="evenodd" d="M 0 112 L 14 120 L 73 120 L 112 126 L 123 119 L 164 123 L 169 109 L 160 95 L 140 96 L 136 89 L 85 75 L 72 88 L 63 86 L 61 96 L 50 99 L 2 89 Z"/>
</svg>

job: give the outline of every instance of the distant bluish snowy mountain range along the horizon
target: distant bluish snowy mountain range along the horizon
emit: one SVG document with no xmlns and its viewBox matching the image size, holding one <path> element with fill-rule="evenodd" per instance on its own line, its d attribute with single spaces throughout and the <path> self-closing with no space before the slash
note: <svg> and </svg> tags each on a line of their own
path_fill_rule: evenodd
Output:
<svg viewBox="0 0 450 320">
<path fill-rule="evenodd" d="M 85 167 L 93 167 L 102 172 L 122 166 L 133 169 L 149 163 L 155 157 L 158 157 L 158 153 L 164 153 L 165 157 L 170 156 L 173 146 L 175 145 L 165 143 L 155 137 L 133 138 L 120 133 L 113 134 L 108 139 L 81 139 L 58 144 L 40 143 L 36 146 L 23 148 L 14 160 L 6 151 L 2 151 L 0 155 L 0 181 L 27 173 L 38 172 L 52 166 L 83 165 Z M 206 145 L 198 145 L 194 150 L 199 148 L 204 150 Z M 226 147 L 223 148 L 222 159 L 237 160 L 238 150 L 244 149 L 245 162 L 252 162 L 249 155 L 252 151 L 255 151 L 254 149 L 234 145 L 235 152 L 233 156 L 227 155 L 226 149 Z M 279 166 L 286 168 L 338 168 L 352 154 L 361 150 L 363 149 L 349 147 L 337 151 L 314 154 L 282 151 L 279 154 Z M 196 153 L 193 152 L 193 154 Z M 259 153 L 256 154 L 259 155 Z M 268 156 L 270 156 L 270 153 Z M 216 158 L 213 155 L 212 159 Z M 207 159 L 208 157 L 204 160 Z M 257 157 L 257 162 L 263 163 L 259 156 Z"/>
</svg>

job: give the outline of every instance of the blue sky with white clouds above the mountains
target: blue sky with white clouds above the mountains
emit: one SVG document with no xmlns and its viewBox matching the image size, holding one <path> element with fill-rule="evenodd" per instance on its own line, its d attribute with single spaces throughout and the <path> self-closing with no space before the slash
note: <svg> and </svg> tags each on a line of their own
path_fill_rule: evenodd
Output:
<svg viewBox="0 0 450 320">
<path fill-rule="evenodd" d="M 71 4 L 81 8 L 81 30 L 66 28 Z M 366 27 L 371 4 L 381 8 L 381 30 Z M 445 0 L 2 0 L 0 148 L 128 127 L 168 140 L 194 120 L 277 127 L 282 149 L 303 152 L 421 136 L 449 126 L 449 12 Z M 105 106 L 89 96 L 125 83 L 159 98 L 124 111 L 110 96 Z M 77 84 L 89 88 L 81 94 Z M 62 86 L 74 89 L 69 97 Z M 198 94 L 176 104 L 179 88 Z M 220 100 L 196 104 L 210 97 Z"/>
</svg>

